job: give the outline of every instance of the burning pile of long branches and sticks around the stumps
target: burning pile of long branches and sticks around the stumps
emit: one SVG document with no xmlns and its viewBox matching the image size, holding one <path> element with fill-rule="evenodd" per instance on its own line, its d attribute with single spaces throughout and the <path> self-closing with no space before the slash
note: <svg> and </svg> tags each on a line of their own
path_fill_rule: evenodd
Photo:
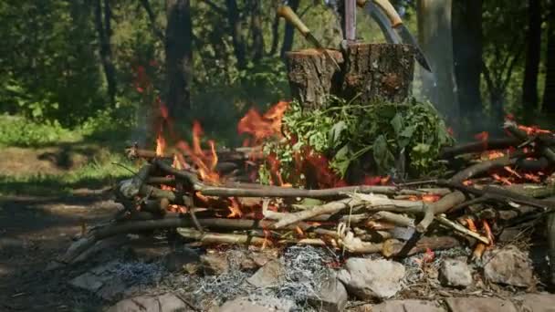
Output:
<svg viewBox="0 0 555 312">
<path fill-rule="evenodd" d="M 144 164 L 115 187 L 124 209 L 58 261 L 73 263 L 114 235 L 153 230 L 176 231 L 196 245 L 309 244 L 384 257 L 468 245 L 479 259 L 505 229 L 535 224 L 555 209 L 555 135 L 512 120 L 504 129 L 505 138 L 484 132 L 445 147 L 438 161 L 448 176 L 319 190 L 248 182 L 260 148 L 219 151 L 211 142 L 205 151 L 196 140 L 183 153 L 164 154 L 132 146 L 128 156 Z M 555 237 L 549 222 L 548 230 Z"/>
</svg>

